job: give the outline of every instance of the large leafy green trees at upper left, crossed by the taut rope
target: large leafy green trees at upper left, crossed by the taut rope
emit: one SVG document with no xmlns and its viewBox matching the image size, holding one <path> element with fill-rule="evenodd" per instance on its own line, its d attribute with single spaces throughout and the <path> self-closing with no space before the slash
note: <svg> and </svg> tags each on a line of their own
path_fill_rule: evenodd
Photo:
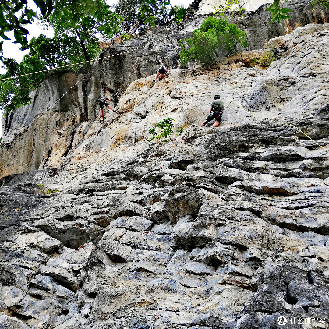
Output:
<svg viewBox="0 0 329 329">
<path fill-rule="evenodd" d="M 29 44 L 30 53 L 24 57 L 21 63 L 12 59 L 3 59 L 7 72 L 0 78 L 9 78 L 96 58 L 100 52 L 98 36 L 101 35 L 107 39 L 114 33 L 118 33 L 122 17 L 112 12 L 105 0 L 86 3 L 74 1 L 61 9 L 56 7 L 51 14 L 47 10 L 47 16 L 40 17 L 40 20 L 46 24 L 47 28 L 51 26 L 54 29 L 54 38 L 47 38 L 44 35 L 33 38 Z M 89 8 L 89 11 L 86 11 L 86 8 Z M 85 66 L 86 69 L 91 69 L 90 63 L 86 63 Z M 78 67 L 71 66 L 70 69 L 77 71 Z M 0 81 L 0 109 L 9 113 L 15 107 L 29 104 L 31 101 L 30 89 L 38 87 L 46 76 L 47 73 L 42 72 Z"/>
</svg>

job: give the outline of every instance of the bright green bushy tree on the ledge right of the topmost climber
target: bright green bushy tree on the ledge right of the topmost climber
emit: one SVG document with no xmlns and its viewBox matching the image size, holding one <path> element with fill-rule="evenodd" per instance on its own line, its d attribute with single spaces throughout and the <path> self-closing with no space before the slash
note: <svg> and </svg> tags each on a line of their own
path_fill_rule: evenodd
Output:
<svg viewBox="0 0 329 329">
<path fill-rule="evenodd" d="M 219 57 L 217 50 L 229 56 L 233 55 L 238 43 L 243 48 L 248 45 L 246 34 L 235 24 L 212 16 L 203 21 L 200 29 L 194 30 L 192 38 L 179 42 L 182 47 L 179 60 L 183 65 L 189 62 L 210 65 L 215 56 Z"/>
</svg>

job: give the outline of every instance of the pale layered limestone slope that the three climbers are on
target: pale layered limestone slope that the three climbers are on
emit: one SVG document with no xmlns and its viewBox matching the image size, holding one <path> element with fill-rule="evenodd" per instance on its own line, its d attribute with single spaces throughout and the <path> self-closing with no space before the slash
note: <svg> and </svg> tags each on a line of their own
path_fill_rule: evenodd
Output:
<svg viewBox="0 0 329 329">
<path fill-rule="evenodd" d="M 1 181 L 0 328 L 272 329 L 280 316 L 287 328 L 328 326 L 329 24 L 266 47 L 279 58 L 267 70 L 245 66 L 261 53 L 249 51 L 156 83 L 136 70 L 113 82 L 104 60 L 56 111 L 39 94 L 30 119 L 7 119 L 26 131 L 8 133 L 6 161 L 23 157 L 15 143 L 40 118 L 51 143 L 34 147 L 57 146 Z M 81 78 L 56 77 L 64 91 Z M 63 93 L 51 86 L 55 102 Z M 93 98 L 105 89 L 118 112 L 103 123 Z M 222 123 L 200 127 L 215 93 Z M 173 141 L 146 142 L 167 117 Z M 299 318 L 318 323 L 290 323 Z"/>
</svg>

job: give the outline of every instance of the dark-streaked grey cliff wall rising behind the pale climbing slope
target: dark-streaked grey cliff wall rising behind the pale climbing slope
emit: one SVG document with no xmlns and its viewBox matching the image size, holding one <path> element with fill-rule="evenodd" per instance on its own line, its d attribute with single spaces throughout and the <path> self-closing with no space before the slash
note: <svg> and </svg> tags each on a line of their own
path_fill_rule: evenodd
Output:
<svg viewBox="0 0 329 329">
<path fill-rule="evenodd" d="M 288 4 L 293 10 L 289 32 L 298 26 L 325 23 L 329 19 L 328 11 L 311 9 L 306 0 L 291 0 Z M 57 165 L 79 136 L 77 126 L 82 122 L 91 126 L 92 122 L 86 121 L 99 115 L 101 96 L 106 93 L 114 102 L 112 106 L 116 106 L 131 82 L 153 75 L 159 65 L 180 69 L 178 40 L 189 37 L 208 16 L 198 14 L 200 8 L 204 6 L 195 8 L 196 13 L 179 26 L 171 22 L 150 34 L 109 47 L 86 76 L 65 73 L 45 81 L 32 93 L 32 104 L 8 115 L 3 122 L 0 178 Z M 246 32 L 250 50 L 263 49 L 270 38 L 287 33 L 279 24 L 268 25 L 269 13 L 265 8 L 249 12 L 247 17 L 236 22 Z"/>
</svg>

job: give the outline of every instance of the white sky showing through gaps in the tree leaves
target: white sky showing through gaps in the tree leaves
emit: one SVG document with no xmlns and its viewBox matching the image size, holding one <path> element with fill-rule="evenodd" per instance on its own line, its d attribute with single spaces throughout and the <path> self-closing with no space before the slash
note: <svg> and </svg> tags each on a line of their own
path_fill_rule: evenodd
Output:
<svg viewBox="0 0 329 329">
<path fill-rule="evenodd" d="M 106 2 L 108 5 L 111 6 L 115 3 L 117 3 L 118 1 L 106 0 Z M 187 8 L 189 6 L 189 4 L 192 3 L 192 0 L 171 0 L 170 3 L 172 6 L 182 5 L 185 8 Z M 36 11 L 38 9 L 36 4 L 32 0 L 28 0 L 28 5 L 29 5 L 29 8 L 33 9 L 34 11 Z M 38 14 L 40 14 L 40 11 L 38 11 Z M 53 37 L 53 35 L 54 35 L 53 31 L 43 30 L 42 23 L 40 23 L 38 21 L 38 19 L 35 19 L 35 21 L 32 24 L 26 24 L 25 27 L 30 33 L 27 36 L 27 40 L 29 42 L 33 37 L 36 38 L 40 34 L 44 34 L 46 37 Z M 14 40 L 13 32 L 6 32 L 5 35 L 8 38 L 11 38 L 12 40 L 4 40 L 4 43 L 2 44 L 3 56 L 5 58 L 13 58 L 19 63 L 23 59 L 23 57 L 29 53 L 29 49 L 26 49 L 26 50 L 18 49 L 20 47 L 20 44 L 13 43 L 13 40 Z M 2 38 L 0 38 L 0 40 L 2 40 Z M 3 74 L 5 72 L 6 72 L 5 68 L 0 62 L 0 74 Z M 1 116 L 2 116 L 2 113 L 0 113 L 0 117 Z M 1 125 L 1 120 L 0 120 L 0 138 L 1 137 L 2 137 L 2 125 Z"/>
</svg>

